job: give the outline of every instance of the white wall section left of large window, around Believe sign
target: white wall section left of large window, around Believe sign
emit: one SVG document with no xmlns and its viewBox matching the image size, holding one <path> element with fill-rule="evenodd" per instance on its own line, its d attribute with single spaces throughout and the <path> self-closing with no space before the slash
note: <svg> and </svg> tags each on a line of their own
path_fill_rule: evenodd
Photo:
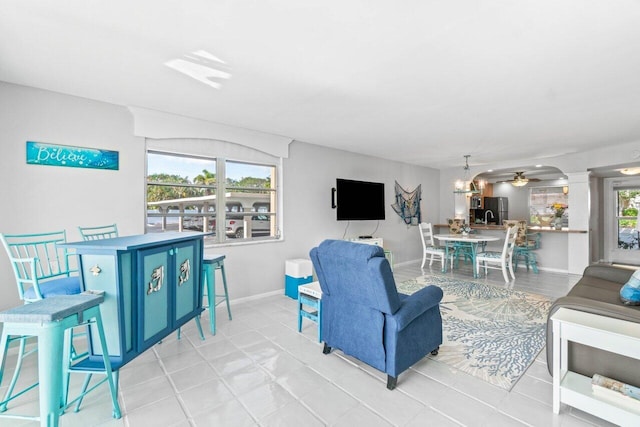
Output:
<svg viewBox="0 0 640 427">
<path fill-rule="evenodd" d="M 123 234 L 144 225 L 144 141 L 122 107 L 0 83 L 0 232 L 67 230 L 117 222 Z M 26 164 L 26 141 L 119 151 L 117 171 Z M 0 309 L 20 304 L 11 266 L 0 254 Z"/>
</svg>

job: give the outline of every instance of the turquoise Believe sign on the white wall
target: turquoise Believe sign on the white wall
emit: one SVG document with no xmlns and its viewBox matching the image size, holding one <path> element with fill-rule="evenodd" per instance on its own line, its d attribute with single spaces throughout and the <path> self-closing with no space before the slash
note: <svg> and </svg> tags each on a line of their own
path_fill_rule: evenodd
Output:
<svg viewBox="0 0 640 427">
<path fill-rule="evenodd" d="M 118 170 L 118 152 L 27 141 L 27 164 Z"/>
</svg>

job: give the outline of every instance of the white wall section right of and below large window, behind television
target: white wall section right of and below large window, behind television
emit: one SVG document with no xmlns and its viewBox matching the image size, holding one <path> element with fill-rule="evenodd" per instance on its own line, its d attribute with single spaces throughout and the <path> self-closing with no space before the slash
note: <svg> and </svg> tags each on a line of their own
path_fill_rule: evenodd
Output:
<svg viewBox="0 0 640 427">
<path fill-rule="evenodd" d="M 422 184 L 423 219 L 437 218 L 438 171 L 294 141 L 284 160 L 283 241 L 207 248 L 224 253 L 231 299 L 267 292 L 284 293 L 285 261 L 308 258 L 324 239 L 375 235 L 384 239 L 395 263 L 418 260 L 422 246 L 417 227 L 407 227 L 391 209 L 394 180 L 407 190 Z M 336 178 L 383 182 L 386 219 L 336 221 L 331 188 Z M 435 201 L 435 202 L 434 202 Z M 376 230 L 376 227 L 377 230 Z"/>
</svg>

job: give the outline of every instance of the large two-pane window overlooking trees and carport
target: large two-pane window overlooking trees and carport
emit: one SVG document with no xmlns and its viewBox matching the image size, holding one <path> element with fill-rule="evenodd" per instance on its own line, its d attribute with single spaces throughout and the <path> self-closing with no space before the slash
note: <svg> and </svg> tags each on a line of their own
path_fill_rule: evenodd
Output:
<svg viewBox="0 0 640 427">
<path fill-rule="evenodd" d="M 275 165 L 149 150 L 146 230 L 205 231 L 213 243 L 277 238 L 276 176 Z"/>
</svg>

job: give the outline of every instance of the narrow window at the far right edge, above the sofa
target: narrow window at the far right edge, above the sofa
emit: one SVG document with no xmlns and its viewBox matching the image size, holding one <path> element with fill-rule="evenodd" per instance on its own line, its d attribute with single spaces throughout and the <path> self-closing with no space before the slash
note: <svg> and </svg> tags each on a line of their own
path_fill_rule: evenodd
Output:
<svg viewBox="0 0 640 427">
<path fill-rule="evenodd" d="M 618 249 L 638 250 L 640 246 L 640 188 L 616 189 Z"/>
</svg>

